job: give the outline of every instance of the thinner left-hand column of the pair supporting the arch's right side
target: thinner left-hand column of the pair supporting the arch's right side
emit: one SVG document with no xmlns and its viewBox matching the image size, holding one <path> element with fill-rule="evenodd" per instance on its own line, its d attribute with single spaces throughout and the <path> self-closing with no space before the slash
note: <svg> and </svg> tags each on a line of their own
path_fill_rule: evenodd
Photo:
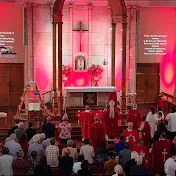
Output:
<svg viewBox="0 0 176 176">
<path fill-rule="evenodd" d="M 111 85 L 115 86 L 115 41 L 116 41 L 116 24 L 112 23 L 112 60 L 111 60 Z"/>
</svg>

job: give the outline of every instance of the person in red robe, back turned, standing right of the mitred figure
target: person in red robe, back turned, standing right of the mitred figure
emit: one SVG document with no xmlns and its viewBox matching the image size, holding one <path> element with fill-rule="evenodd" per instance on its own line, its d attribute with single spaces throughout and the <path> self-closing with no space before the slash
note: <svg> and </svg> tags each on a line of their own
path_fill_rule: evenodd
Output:
<svg viewBox="0 0 176 176">
<path fill-rule="evenodd" d="M 141 121 L 142 121 L 141 113 L 137 109 L 137 105 L 135 105 L 132 110 L 128 111 L 127 122 L 132 122 L 133 128 L 138 130 L 138 128 L 140 127 Z"/>
</svg>

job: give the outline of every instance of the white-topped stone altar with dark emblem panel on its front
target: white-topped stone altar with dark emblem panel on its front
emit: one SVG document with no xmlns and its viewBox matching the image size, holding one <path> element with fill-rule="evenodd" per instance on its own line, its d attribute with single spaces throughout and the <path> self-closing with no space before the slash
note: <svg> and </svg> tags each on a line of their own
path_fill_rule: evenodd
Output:
<svg viewBox="0 0 176 176">
<path fill-rule="evenodd" d="M 65 106 L 105 106 L 110 92 L 116 92 L 116 88 L 113 86 L 65 87 Z"/>
</svg>

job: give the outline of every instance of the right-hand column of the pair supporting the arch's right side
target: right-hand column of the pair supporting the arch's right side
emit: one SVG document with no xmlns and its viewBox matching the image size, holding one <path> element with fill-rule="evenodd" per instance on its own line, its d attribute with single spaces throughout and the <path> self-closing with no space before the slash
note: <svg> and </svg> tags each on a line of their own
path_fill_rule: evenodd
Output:
<svg viewBox="0 0 176 176">
<path fill-rule="evenodd" d="M 126 35 L 127 35 L 127 17 L 122 19 L 122 105 L 121 112 L 123 116 L 126 114 Z"/>
</svg>

